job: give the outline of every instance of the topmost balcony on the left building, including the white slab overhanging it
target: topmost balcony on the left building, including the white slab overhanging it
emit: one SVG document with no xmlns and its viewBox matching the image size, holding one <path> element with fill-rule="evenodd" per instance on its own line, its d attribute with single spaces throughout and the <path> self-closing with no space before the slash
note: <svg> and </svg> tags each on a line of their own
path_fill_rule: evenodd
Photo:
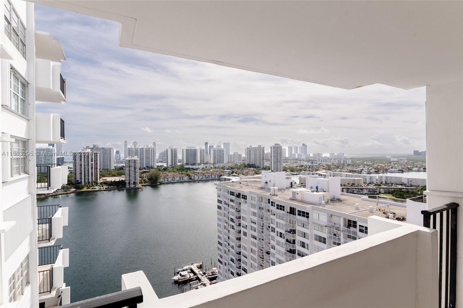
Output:
<svg viewBox="0 0 463 308">
<path fill-rule="evenodd" d="M 62 103 L 66 101 L 66 79 L 60 63 L 66 60 L 59 40 L 50 33 L 35 31 L 36 43 L 36 101 Z"/>
</svg>

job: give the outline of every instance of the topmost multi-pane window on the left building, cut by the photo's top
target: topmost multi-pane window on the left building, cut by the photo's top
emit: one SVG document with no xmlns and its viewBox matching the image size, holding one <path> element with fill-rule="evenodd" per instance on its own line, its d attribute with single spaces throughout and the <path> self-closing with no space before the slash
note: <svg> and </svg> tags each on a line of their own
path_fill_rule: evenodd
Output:
<svg viewBox="0 0 463 308">
<path fill-rule="evenodd" d="M 5 35 L 18 49 L 21 55 L 26 57 L 26 28 L 14 10 L 11 2 L 5 1 Z"/>
</svg>

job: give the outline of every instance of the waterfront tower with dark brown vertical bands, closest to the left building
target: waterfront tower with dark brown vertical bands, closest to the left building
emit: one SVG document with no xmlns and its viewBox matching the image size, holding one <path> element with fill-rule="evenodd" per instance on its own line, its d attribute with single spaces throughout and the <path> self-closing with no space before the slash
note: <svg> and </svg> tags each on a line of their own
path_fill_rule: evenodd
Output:
<svg viewBox="0 0 463 308">
<path fill-rule="evenodd" d="M 100 179 L 99 165 L 100 153 L 90 149 L 72 155 L 72 182 L 74 184 L 87 184 Z"/>
</svg>

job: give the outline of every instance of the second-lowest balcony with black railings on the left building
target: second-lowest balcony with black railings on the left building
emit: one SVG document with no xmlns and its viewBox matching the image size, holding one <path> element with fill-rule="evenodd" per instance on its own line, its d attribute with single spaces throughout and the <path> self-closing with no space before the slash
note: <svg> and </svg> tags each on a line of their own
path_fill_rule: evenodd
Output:
<svg viewBox="0 0 463 308">
<path fill-rule="evenodd" d="M 63 238 L 63 227 L 68 225 L 69 208 L 59 204 L 37 206 L 37 245 L 54 245 Z"/>
</svg>

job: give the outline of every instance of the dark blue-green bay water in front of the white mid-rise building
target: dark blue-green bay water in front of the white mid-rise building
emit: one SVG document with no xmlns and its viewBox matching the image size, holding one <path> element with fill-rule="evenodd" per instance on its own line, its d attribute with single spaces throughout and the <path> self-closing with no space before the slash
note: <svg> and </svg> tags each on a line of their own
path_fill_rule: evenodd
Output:
<svg viewBox="0 0 463 308">
<path fill-rule="evenodd" d="M 213 181 L 120 191 L 79 192 L 37 200 L 69 207 L 64 282 L 71 302 L 121 290 L 121 275 L 144 271 L 158 297 L 181 292 L 174 267 L 217 262 L 217 196 Z M 212 266 L 211 266 L 212 267 Z"/>
</svg>

